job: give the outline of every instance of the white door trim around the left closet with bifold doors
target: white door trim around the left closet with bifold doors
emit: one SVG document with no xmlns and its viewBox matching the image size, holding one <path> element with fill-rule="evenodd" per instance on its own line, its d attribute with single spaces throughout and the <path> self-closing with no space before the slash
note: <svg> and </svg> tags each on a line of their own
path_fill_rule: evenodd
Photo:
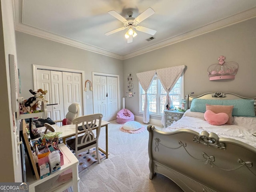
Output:
<svg viewBox="0 0 256 192">
<path fill-rule="evenodd" d="M 37 81 L 37 73 L 36 70 L 42 69 L 42 70 L 52 70 L 52 71 L 61 71 L 61 72 L 72 72 L 72 73 L 80 73 L 82 76 L 82 85 L 83 82 L 85 82 L 84 78 L 84 71 L 83 70 L 76 70 L 76 69 L 69 69 L 69 68 L 60 68 L 60 67 L 53 67 L 53 66 L 44 66 L 44 65 L 35 65 L 33 64 L 33 84 L 34 84 L 34 90 L 36 90 L 36 81 Z M 83 106 L 83 115 L 86 114 L 86 100 L 84 98 L 85 94 L 83 91 L 83 87 L 81 87 L 82 90 L 82 106 Z"/>
</svg>

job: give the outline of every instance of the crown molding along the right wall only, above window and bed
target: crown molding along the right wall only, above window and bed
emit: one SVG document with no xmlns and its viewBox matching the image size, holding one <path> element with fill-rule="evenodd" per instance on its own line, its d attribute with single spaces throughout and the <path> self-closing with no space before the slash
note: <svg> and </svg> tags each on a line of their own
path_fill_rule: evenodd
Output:
<svg viewBox="0 0 256 192">
<path fill-rule="evenodd" d="M 244 12 L 240 12 L 238 14 L 232 15 L 230 17 L 218 20 L 216 22 L 205 25 L 201 28 L 192 30 L 190 32 L 175 36 L 173 38 L 169 38 L 167 40 L 164 40 L 164 41 L 154 44 L 152 46 L 148 46 L 146 48 L 136 50 L 130 54 L 124 55 L 123 60 L 132 58 L 132 57 L 135 57 L 135 56 L 138 56 L 138 55 L 141 55 L 141 54 L 144 54 L 144 53 L 156 50 L 156 49 L 160 49 L 165 46 L 169 46 L 169 45 L 172 45 L 172 44 L 184 41 L 184 40 L 188 40 L 190 38 L 200 36 L 202 34 L 206 34 L 206 33 L 221 29 L 221 28 L 225 28 L 227 26 L 237 24 L 237 23 L 240 23 L 240 22 L 243 22 L 243 21 L 255 18 L 255 17 L 256 17 L 256 7 L 246 10 Z"/>
</svg>

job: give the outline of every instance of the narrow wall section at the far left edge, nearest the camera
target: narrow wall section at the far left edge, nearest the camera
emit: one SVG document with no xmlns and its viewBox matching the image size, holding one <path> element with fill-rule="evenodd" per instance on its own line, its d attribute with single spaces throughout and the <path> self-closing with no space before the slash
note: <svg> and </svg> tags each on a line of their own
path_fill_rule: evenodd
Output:
<svg viewBox="0 0 256 192">
<path fill-rule="evenodd" d="M 15 113 L 11 108 L 11 86 L 9 73 L 9 54 L 14 55 L 16 63 L 16 44 L 14 29 L 14 12 L 12 1 L 0 1 L 0 87 L 1 87 L 1 140 L 0 140 L 0 182 L 22 182 L 21 160 L 18 157 L 16 165 L 14 126 L 19 126 L 15 121 Z M 19 129 L 17 129 L 19 130 Z M 17 133 L 17 132 L 16 132 Z"/>
</svg>

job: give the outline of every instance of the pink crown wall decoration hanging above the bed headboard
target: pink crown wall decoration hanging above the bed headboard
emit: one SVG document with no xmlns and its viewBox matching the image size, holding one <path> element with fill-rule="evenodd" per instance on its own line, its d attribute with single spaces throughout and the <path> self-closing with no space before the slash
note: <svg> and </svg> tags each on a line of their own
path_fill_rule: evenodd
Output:
<svg viewBox="0 0 256 192">
<path fill-rule="evenodd" d="M 208 76 L 210 81 L 221 79 L 234 79 L 238 71 L 238 63 L 225 62 L 225 56 L 221 55 L 218 58 L 219 63 L 212 64 L 208 67 Z"/>
</svg>

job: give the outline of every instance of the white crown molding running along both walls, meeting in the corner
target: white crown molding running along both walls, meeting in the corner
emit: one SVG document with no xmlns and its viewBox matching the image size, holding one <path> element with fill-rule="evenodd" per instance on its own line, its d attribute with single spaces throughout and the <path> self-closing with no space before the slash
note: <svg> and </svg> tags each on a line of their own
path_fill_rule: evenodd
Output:
<svg viewBox="0 0 256 192">
<path fill-rule="evenodd" d="M 184 40 L 196 37 L 196 36 L 200 36 L 202 34 L 206 34 L 208 32 L 212 32 L 212 31 L 215 31 L 215 30 L 218 30 L 218 29 L 221 29 L 221 28 L 224 28 L 224 27 L 227 27 L 227 26 L 230 26 L 230 25 L 233 25 L 233 24 L 236 24 L 239 22 L 243 22 L 245 20 L 249 20 L 249 19 L 256 17 L 256 7 L 254 7 L 249 10 L 246 10 L 244 12 L 240 12 L 233 16 L 230 16 L 230 17 L 224 18 L 222 20 L 213 22 L 211 24 L 205 25 L 201 28 L 198 28 L 198 29 L 192 30 L 190 32 L 175 36 L 173 38 L 169 38 L 160 43 L 148 46 L 146 48 L 142 48 L 140 50 L 136 50 L 130 54 L 126 54 L 126 55 L 122 56 L 122 55 L 119 55 L 119 54 L 116 54 L 113 52 L 109 52 L 108 50 L 104 50 L 104 49 L 96 47 L 96 46 L 85 44 L 83 42 L 79 42 L 79 41 L 76 41 L 76 40 L 73 40 L 70 38 L 66 38 L 66 37 L 63 37 L 63 36 L 60 36 L 57 34 L 53 34 L 48 31 L 44 31 L 44 30 L 41 30 L 38 28 L 34 28 L 32 26 L 28 26 L 26 24 L 22 24 L 22 18 L 21 18 L 22 13 L 20 13 L 19 1 L 18 0 L 13 0 L 13 1 L 14 1 L 15 30 L 16 31 L 30 34 L 33 36 L 38 36 L 40 38 L 45 38 L 48 40 L 52 40 L 55 42 L 73 46 L 76 48 L 84 49 L 87 51 L 95 52 L 95 53 L 109 56 L 112 58 L 116 58 L 119 60 L 126 60 L 128 58 L 132 58 L 132 57 L 135 57 L 135 56 L 138 56 L 138 55 L 141 55 L 141 54 L 144 54 L 144 53 L 156 50 L 156 49 L 163 48 L 165 46 L 169 46 L 169 45 L 172 45 L 172 44 L 175 44 L 175 43 L 178 43 L 178 42 L 181 42 L 181 41 L 184 41 Z"/>
</svg>

